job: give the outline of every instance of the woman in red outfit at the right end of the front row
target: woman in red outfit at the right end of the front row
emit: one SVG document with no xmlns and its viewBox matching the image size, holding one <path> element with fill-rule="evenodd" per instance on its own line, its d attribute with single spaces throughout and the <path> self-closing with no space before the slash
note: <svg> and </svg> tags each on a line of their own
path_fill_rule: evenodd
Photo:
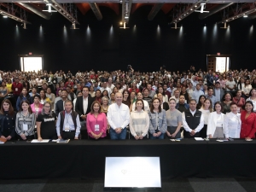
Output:
<svg viewBox="0 0 256 192">
<path fill-rule="evenodd" d="M 240 138 L 255 138 L 256 113 L 253 113 L 253 102 L 247 101 L 245 110 L 241 112 L 241 132 Z"/>
</svg>

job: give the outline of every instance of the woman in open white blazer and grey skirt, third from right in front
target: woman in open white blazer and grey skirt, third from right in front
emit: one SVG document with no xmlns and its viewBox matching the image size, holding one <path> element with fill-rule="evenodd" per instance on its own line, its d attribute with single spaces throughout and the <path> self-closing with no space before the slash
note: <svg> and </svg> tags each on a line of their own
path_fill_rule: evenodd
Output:
<svg viewBox="0 0 256 192">
<path fill-rule="evenodd" d="M 224 131 L 224 113 L 221 102 L 215 102 L 214 112 L 209 114 L 207 125 L 207 137 L 209 138 L 223 138 Z"/>
</svg>

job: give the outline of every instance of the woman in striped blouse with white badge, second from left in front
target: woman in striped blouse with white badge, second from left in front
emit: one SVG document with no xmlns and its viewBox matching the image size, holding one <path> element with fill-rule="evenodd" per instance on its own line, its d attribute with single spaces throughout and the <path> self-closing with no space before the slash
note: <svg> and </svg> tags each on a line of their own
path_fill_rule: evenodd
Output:
<svg viewBox="0 0 256 192">
<path fill-rule="evenodd" d="M 15 131 L 21 140 L 32 140 L 34 138 L 34 128 L 36 115 L 27 100 L 20 103 L 20 111 L 16 115 Z"/>
</svg>

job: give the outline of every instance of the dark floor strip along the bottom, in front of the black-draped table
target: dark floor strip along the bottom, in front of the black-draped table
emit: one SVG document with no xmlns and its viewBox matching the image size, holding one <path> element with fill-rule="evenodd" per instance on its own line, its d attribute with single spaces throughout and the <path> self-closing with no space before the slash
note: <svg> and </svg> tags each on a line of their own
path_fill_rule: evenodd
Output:
<svg viewBox="0 0 256 192">
<path fill-rule="evenodd" d="M 25 179 L 0 180 L 1 192 L 100 192 L 157 191 L 156 189 L 105 189 L 103 180 Z M 163 179 L 160 191 L 170 192 L 255 192 L 256 178 L 174 178 Z"/>
</svg>

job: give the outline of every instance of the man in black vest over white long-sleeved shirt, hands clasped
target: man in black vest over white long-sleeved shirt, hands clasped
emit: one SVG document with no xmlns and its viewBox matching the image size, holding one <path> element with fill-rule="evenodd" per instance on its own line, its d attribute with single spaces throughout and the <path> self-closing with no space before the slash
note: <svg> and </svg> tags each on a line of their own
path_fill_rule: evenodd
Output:
<svg viewBox="0 0 256 192">
<path fill-rule="evenodd" d="M 204 118 L 201 111 L 196 109 L 195 99 L 189 101 L 189 109 L 183 112 L 183 137 L 200 137 L 200 131 L 204 126 Z"/>
</svg>

